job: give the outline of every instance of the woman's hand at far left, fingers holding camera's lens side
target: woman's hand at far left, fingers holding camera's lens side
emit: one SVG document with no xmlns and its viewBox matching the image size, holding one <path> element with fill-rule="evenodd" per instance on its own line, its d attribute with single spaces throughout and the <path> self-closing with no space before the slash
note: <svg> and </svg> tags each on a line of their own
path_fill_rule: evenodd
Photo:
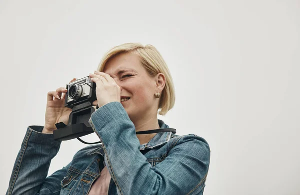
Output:
<svg viewBox="0 0 300 195">
<path fill-rule="evenodd" d="M 73 78 L 70 82 L 75 81 Z M 52 134 L 53 130 L 57 129 L 55 124 L 63 122 L 68 124 L 68 118 L 72 109 L 64 106 L 65 93 L 67 89 L 64 87 L 59 87 L 56 91 L 49 91 L 47 95 L 47 106 L 45 112 L 45 125 L 41 133 Z"/>
</svg>

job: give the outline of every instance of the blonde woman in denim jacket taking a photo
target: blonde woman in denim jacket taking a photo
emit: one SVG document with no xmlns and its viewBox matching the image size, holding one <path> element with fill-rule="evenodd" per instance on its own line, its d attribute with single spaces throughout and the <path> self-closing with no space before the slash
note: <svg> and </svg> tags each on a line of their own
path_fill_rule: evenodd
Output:
<svg viewBox="0 0 300 195">
<path fill-rule="evenodd" d="M 97 71 L 96 98 L 89 123 L 102 144 L 78 151 L 61 170 L 47 176 L 59 141 L 55 123 L 67 124 L 66 89 L 48 92 L 45 125 L 29 126 L 11 174 L 8 195 L 199 195 L 203 193 L 210 150 L 196 135 L 171 132 L 157 120 L 174 104 L 169 70 L 151 45 L 126 43 L 109 50 Z"/>
</svg>

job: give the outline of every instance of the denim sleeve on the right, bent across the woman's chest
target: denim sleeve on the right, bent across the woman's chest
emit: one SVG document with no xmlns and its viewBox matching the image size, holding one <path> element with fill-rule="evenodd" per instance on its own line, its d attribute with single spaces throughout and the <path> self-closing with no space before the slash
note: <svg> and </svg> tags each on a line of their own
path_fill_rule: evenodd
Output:
<svg viewBox="0 0 300 195">
<path fill-rule="evenodd" d="M 119 102 L 97 109 L 89 119 L 100 138 L 105 164 L 121 195 L 202 194 L 210 149 L 195 135 L 174 138 L 155 167 L 139 151 L 135 127 Z"/>
</svg>

